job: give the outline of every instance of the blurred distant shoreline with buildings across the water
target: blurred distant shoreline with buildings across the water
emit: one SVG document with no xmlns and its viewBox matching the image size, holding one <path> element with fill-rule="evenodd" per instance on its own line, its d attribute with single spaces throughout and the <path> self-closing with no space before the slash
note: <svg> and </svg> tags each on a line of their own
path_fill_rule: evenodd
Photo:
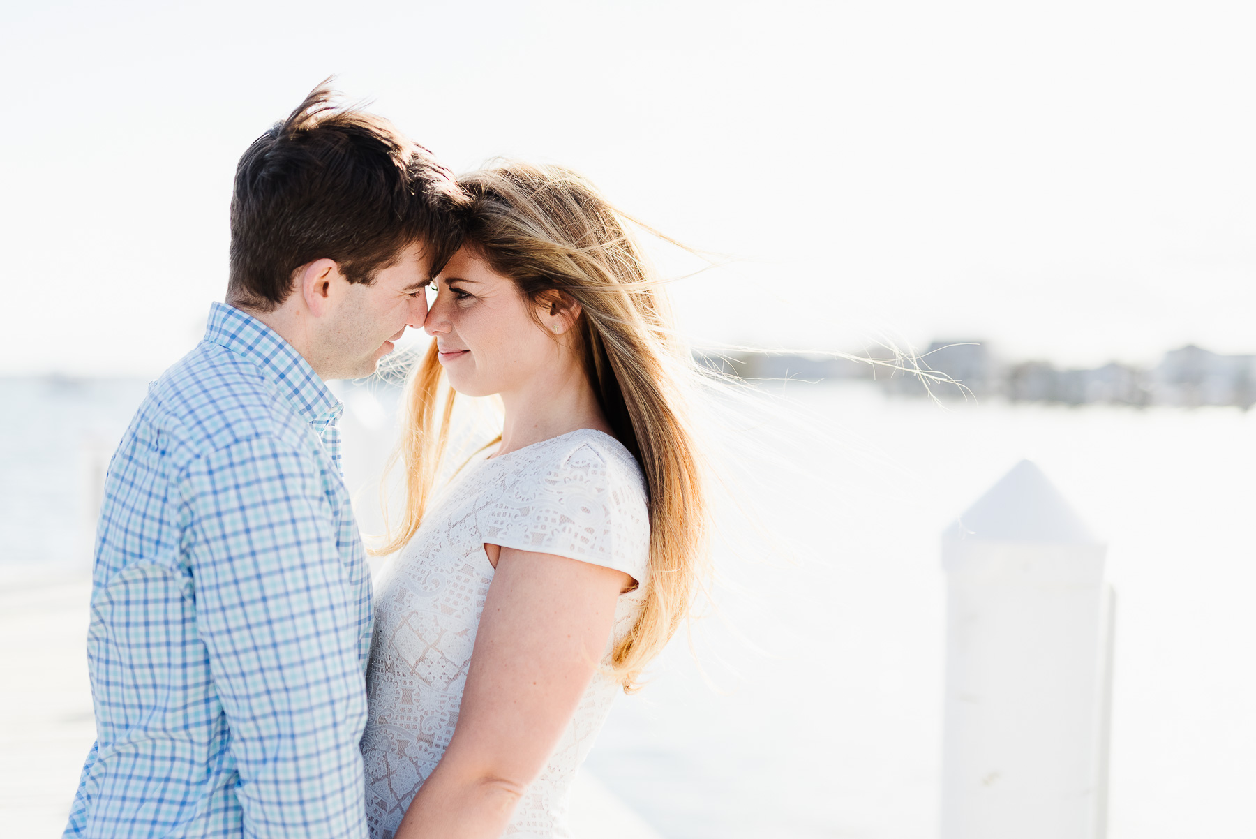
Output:
<svg viewBox="0 0 1256 839">
<path fill-rule="evenodd" d="M 922 378 L 898 368 L 892 352 L 825 355 L 818 353 L 701 354 L 712 369 L 745 379 L 869 379 L 888 393 L 924 396 Z M 928 392 L 943 398 L 997 396 L 1010 402 L 1059 404 L 1256 404 L 1256 354 L 1222 355 L 1194 345 L 1169 350 L 1152 368 L 1110 362 L 1093 369 L 1058 368 L 1046 360 L 1006 363 L 985 342 L 936 340 L 916 357 L 924 372 L 952 379 L 931 382 Z"/>
</svg>

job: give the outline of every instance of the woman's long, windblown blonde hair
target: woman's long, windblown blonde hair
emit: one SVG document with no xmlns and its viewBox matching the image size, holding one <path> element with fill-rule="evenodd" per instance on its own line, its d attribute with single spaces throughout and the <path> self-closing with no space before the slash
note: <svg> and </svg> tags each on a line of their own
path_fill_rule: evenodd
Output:
<svg viewBox="0 0 1256 839">
<path fill-rule="evenodd" d="M 504 162 L 460 183 L 471 196 L 465 246 L 514 280 L 539 309 L 580 305 L 577 350 L 614 436 L 644 472 L 651 525 L 646 604 L 612 657 L 624 690 L 634 690 L 642 669 L 690 614 L 710 568 L 706 463 L 688 396 L 702 373 L 676 338 L 666 296 L 631 226 L 667 237 L 559 166 Z M 381 553 L 413 538 L 432 497 L 455 401 L 452 389 L 442 394 L 442 378 L 433 342 L 408 384 L 399 448 L 406 507 Z"/>
</svg>

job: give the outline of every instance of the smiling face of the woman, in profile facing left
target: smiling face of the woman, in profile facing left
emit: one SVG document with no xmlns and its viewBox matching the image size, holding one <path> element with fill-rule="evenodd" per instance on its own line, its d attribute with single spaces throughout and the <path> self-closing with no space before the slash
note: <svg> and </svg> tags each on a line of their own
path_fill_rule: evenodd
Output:
<svg viewBox="0 0 1256 839">
<path fill-rule="evenodd" d="M 540 327 L 529 303 L 509 278 L 465 247 L 436 279 L 436 300 L 423 329 L 436 339 L 450 384 L 466 396 L 509 393 L 556 372 L 563 365 L 561 342 L 546 332 L 560 315 L 541 315 Z"/>
</svg>

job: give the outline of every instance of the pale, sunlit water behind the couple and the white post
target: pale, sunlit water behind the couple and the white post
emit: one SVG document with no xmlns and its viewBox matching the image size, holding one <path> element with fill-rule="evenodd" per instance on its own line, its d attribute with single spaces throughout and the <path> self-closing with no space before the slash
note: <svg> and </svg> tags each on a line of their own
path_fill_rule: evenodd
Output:
<svg viewBox="0 0 1256 839">
<path fill-rule="evenodd" d="M 4 564 L 85 570 L 82 529 L 67 522 L 90 509 L 93 463 L 143 383 L 0 388 Z M 343 393 L 349 482 L 369 490 L 394 394 Z M 756 515 L 794 549 L 721 555 L 721 613 L 695 633 L 706 674 L 683 638 L 673 644 L 653 681 L 618 702 L 590 757 L 595 775 L 672 839 L 936 835 L 937 538 L 1029 456 L 1110 543 L 1109 835 L 1256 833 L 1256 413 L 943 408 L 863 384 L 785 396 L 813 420 L 785 443 L 777 430 L 757 432 L 754 445 L 786 461 L 766 457 L 751 490 Z M 369 520 L 374 496 L 359 497 Z"/>
</svg>

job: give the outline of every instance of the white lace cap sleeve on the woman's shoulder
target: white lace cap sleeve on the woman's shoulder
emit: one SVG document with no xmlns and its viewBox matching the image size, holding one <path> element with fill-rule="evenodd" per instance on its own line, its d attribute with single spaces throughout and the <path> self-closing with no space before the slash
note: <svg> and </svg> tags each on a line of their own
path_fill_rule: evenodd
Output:
<svg viewBox="0 0 1256 839">
<path fill-rule="evenodd" d="M 511 458 L 501 463 L 502 492 L 477 512 L 484 541 L 613 568 L 646 585 L 649 516 L 632 455 L 593 431 L 530 448 L 502 458 Z"/>
</svg>

